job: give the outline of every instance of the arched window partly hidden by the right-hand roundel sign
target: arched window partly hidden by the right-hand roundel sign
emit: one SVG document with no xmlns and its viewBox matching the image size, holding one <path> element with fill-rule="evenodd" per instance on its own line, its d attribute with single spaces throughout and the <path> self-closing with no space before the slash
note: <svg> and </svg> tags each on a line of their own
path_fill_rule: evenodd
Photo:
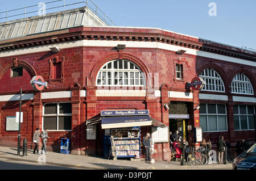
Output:
<svg viewBox="0 0 256 181">
<path fill-rule="evenodd" d="M 217 71 L 213 69 L 204 69 L 200 73 L 199 77 L 203 78 L 205 83 L 202 90 L 225 92 L 224 83 L 220 75 L 217 73 Z"/>
</svg>

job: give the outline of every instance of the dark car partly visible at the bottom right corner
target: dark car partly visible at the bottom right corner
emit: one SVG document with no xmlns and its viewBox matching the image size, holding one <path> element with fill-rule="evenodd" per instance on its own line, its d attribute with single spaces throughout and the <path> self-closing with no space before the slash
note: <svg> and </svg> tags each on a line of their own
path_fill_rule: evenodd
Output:
<svg viewBox="0 0 256 181">
<path fill-rule="evenodd" d="M 249 163 L 254 163 L 252 167 L 255 167 L 255 158 L 256 157 L 256 143 L 253 144 L 245 153 L 242 153 L 238 155 L 233 162 L 233 168 L 237 169 L 238 167 L 240 169 L 248 169 Z M 254 160 L 254 162 L 253 162 Z M 248 161 L 248 162 L 247 162 Z M 243 167 L 245 166 L 245 167 Z"/>
</svg>

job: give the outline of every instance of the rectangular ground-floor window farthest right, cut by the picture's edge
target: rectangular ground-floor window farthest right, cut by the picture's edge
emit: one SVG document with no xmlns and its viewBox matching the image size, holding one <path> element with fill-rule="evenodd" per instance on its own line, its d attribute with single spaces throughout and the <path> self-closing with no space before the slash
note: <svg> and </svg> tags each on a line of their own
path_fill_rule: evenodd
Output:
<svg viewBox="0 0 256 181">
<path fill-rule="evenodd" d="M 234 106 L 234 130 L 255 129 L 254 106 L 236 105 Z"/>
</svg>

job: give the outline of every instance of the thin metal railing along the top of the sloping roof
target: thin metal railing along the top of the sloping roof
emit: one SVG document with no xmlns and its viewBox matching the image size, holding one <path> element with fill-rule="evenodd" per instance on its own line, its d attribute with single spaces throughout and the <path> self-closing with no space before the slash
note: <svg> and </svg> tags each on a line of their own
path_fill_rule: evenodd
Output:
<svg viewBox="0 0 256 181">
<path fill-rule="evenodd" d="M 67 4 L 67 1 L 71 1 L 71 0 L 56 0 L 56 1 L 50 1 L 50 2 L 45 2 L 45 5 L 52 5 L 52 7 L 48 7 L 46 9 L 44 9 L 45 11 L 47 10 L 54 10 L 52 12 L 57 12 L 57 11 L 62 11 L 63 10 L 68 10 L 67 7 L 71 7 L 69 9 L 75 8 L 75 5 L 82 5 L 82 7 L 88 7 L 92 12 L 94 12 L 94 14 L 96 14 L 98 16 L 98 18 L 100 18 L 102 21 L 104 21 L 104 23 L 108 24 L 108 26 L 117 26 L 112 19 L 110 19 L 105 12 L 103 12 L 94 2 L 92 2 L 91 0 L 86 0 L 86 1 L 80 1 L 80 2 L 74 2 L 74 3 L 69 3 Z M 58 3 L 58 5 L 60 4 L 60 2 L 62 2 L 61 6 L 57 6 L 56 3 Z M 55 5 L 53 5 L 55 3 Z M 36 12 L 39 12 L 39 9 L 35 11 L 36 8 L 39 8 L 40 4 L 38 5 L 33 5 L 33 6 L 25 6 L 19 9 L 14 9 L 14 10 L 6 10 L 6 11 L 2 11 L 0 12 L 0 23 L 3 22 L 2 20 L 9 20 L 10 18 L 27 18 L 27 15 L 31 15 L 31 16 L 36 16 Z M 76 7 L 77 8 L 77 7 Z M 51 13 L 52 13 L 51 12 Z M 14 19 L 10 19 L 10 20 L 14 20 Z"/>
</svg>

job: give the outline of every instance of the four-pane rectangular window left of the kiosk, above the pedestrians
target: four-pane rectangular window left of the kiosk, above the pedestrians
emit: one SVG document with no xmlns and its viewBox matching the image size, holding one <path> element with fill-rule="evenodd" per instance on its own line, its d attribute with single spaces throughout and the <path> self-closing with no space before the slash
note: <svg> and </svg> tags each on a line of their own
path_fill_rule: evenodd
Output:
<svg viewBox="0 0 256 181">
<path fill-rule="evenodd" d="M 43 107 L 43 129 L 52 131 L 71 131 L 71 103 L 51 103 Z"/>
</svg>

